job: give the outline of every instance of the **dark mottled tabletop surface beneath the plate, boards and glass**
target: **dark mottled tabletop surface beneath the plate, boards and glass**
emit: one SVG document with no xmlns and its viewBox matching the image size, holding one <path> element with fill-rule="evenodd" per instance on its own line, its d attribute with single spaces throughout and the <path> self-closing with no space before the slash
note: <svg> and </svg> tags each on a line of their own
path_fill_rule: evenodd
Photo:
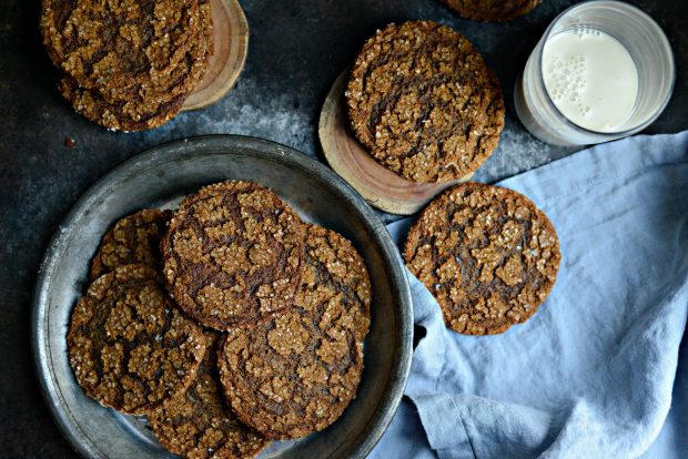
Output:
<svg viewBox="0 0 688 459">
<path fill-rule="evenodd" d="M 532 13 L 505 24 L 462 20 L 435 0 L 241 3 L 251 41 L 235 89 L 212 108 L 183 113 L 155 131 L 115 134 L 74 114 L 58 93 L 55 72 L 40 43 L 39 2 L 0 2 L 0 457 L 74 455 L 50 418 L 33 375 L 29 345 L 33 282 L 48 239 L 69 207 L 99 176 L 138 152 L 190 135 L 234 133 L 282 142 L 322 160 L 316 121 L 336 75 L 376 28 L 422 18 L 465 34 L 504 85 L 506 128 L 477 180 L 492 182 L 567 154 L 524 131 L 514 118 L 512 95 L 516 74 L 546 26 L 573 1 L 545 0 Z M 674 98 L 646 132 L 687 129 L 688 2 L 634 3 L 665 29 L 677 60 Z"/>
</svg>

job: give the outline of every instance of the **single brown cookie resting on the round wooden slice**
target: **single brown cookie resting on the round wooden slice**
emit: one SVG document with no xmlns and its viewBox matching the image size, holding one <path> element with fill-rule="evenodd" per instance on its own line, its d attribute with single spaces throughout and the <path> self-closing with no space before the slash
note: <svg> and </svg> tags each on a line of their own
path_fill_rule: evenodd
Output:
<svg viewBox="0 0 688 459">
<path fill-rule="evenodd" d="M 432 21 L 391 24 L 366 41 L 346 101 L 372 156 L 414 182 L 475 171 L 504 128 L 496 75 L 466 38 Z"/>
</svg>

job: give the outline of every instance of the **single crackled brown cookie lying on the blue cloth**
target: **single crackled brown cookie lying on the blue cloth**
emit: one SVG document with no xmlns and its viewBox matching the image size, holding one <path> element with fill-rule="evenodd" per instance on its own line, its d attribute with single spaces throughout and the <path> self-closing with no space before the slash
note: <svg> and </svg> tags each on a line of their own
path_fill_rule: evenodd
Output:
<svg viewBox="0 0 688 459">
<path fill-rule="evenodd" d="M 530 200 L 466 183 L 423 211 L 404 258 L 439 303 L 447 327 L 492 335 L 535 314 L 561 255 L 554 226 Z"/>
</svg>

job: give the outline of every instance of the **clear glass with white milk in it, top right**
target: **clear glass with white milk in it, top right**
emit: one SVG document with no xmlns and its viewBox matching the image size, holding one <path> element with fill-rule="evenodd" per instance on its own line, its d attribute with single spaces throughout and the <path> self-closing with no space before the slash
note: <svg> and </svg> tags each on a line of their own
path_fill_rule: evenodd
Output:
<svg viewBox="0 0 688 459">
<path fill-rule="evenodd" d="M 518 118 L 555 145 L 631 135 L 671 96 L 674 55 L 659 26 L 620 1 L 587 1 L 559 14 L 516 82 Z"/>
</svg>

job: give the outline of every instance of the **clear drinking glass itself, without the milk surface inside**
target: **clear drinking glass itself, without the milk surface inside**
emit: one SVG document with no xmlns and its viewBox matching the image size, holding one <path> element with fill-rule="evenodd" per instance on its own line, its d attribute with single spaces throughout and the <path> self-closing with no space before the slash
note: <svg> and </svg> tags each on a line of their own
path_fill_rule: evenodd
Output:
<svg viewBox="0 0 688 459">
<path fill-rule="evenodd" d="M 638 71 L 638 93 L 633 112 L 615 132 L 590 131 L 573 123 L 555 106 L 543 78 L 543 49 L 558 33 L 595 29 L 617 39 Z M 555 145 L 587 145 L 621 139 L 645 129 L 667 106 L 674 90 L 674 55 L 667 37 L 646 13 L 628 3 L 594 0 L 575 4 L 559 14 L 537 43 L 514 99 L 522 123 L 536 137 Z"/>
</svg>

